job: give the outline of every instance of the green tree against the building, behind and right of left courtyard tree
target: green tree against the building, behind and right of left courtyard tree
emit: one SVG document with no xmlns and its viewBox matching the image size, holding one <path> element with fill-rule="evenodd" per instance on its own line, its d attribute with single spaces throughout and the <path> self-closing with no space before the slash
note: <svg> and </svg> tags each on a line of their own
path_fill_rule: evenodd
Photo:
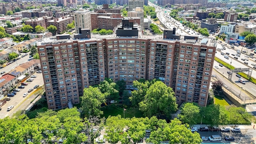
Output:
<svg viewBox="0 0 256 144">
<path fill-rule="evenodd" d="M 118 100 L 119 88 L 118 85 L 116 85 L 116 83 L 114 83 L 112 79 L 105 78 L 103 82 L 100 82 L 98 88 L 103 94 L 105 94 L 107 102 L 110 102 L 110 100 Z"/>
</svg>

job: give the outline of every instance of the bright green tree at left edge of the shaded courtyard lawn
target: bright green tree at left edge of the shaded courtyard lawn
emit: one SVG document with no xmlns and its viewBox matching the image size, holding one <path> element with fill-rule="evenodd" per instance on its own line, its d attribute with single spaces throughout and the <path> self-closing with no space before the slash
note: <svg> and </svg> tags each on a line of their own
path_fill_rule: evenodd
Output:
<svg viewBox="0 0 256 144">
<path fill-rule="evenodd" d="M 105 102 L 105 94 L 100 92 L 99 88 L 89 86 L 84 88 L 84 94 L 81 97 L 82 116 L 89 118 L 89 116 L 100 116 L 103 112 L 100 110 L 101 104 Z"/>
</svg>

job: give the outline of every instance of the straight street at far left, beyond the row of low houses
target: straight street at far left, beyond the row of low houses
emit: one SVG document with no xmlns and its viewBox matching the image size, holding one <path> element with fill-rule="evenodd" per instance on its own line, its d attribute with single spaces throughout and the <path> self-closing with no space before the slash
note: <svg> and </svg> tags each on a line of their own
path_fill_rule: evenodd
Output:
<svg viewBox="0 0 256 144">
<path fill-rule="evenodd" d="M 29 54 L 27 56 L 24 56 L 23 58 L 20 58 L 19 60 L 17 60 L 16 62 L 13 62 L 11 64 L 9 64 L 8 66 L 2 68 L 0 67 L 0 71 L 1 72 L 5 72 L 4 74 L 8 73 L 10 70 L 13 70 L 14 68 L 16 68 L 17 66 L 19 66 L 20 64 L 23 64 L 25 62 L 28 62 L 30 60 L 32 60 L 33 58 L 29 58 Z"/>
</svg>

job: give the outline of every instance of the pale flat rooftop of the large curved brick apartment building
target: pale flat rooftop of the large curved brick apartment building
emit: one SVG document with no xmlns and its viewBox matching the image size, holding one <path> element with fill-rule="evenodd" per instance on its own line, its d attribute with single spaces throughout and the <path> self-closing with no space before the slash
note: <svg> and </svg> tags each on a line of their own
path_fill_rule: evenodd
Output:
<svg viewBox="0 0 256 144">
<path fill-rule="evenodd" d="M 66 42 L 73 42 L 74 40 L 77 40 L 78 42 L 84 42 L 87 40 L 101 40 L 101 39 L 114 39 L 114 38 L 140 38 L 140 39 L 151 39 L 151 40 L 159 40 L 159 41 L 165 41 L 165 42 L 176 42 L 179 41 L 181 43 L 190 43 L 190 44 L 194 44 L 194 45 L 206 45 L 206 46 L 216 46 L 216 40 L 212 39 L 212 38 L 207 38 L 207 37 L 200 37 L 198 38 L 198 40 L 193 40 L 193 39 L 186 39 L 184 40 L 184 38 L 187 36 L 180 36 L 180 39 L 166 39 L 163 38 L 162 35 L 154 35 L 154 36 L 149 36 L 149 35 L 143 35 L 142 34 L 142 30 L 140 25 L 138 24 L 134 24 L 133 28 L 124 28 L 124 30 L 132 30 L 132 29 L 136 29 L 138 28 L 138 36 L 117 36 L 116 34 L 116 30 L 118 28 L 120 28 L 122 26 L 122 24 L 118 25 L 118 27 L 116 27 L 116 29 L 114 30 L 113 34 L 109 34 L 109 35 L 100 35 L 100 34 L 91 34 L 91 38 L 82 38 L 82 39 L 75 39 L 75 38 L 68 38 L 68 39 L 60 39 L 57 40 L 56 36 L 51 36 L 51 37 L 44 37 L 41 40 L 38 41 L 38 45 L 44 45 L 44 44 L 60 44 L 60 43 L 66 43 Z M 127 31 L 129 32 L 129 31 Z M 192 36 L 193 37 L 193 36 Z M 194 36 L 194 37 L 198 37 L 198 36 Z"/>
</svg>

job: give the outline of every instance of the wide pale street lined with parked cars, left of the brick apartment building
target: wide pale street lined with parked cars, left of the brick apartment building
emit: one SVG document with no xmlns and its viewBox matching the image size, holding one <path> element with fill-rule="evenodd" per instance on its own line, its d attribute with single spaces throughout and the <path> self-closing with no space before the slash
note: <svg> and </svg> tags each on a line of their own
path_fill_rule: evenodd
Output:
<svg viewBox="0 0 256 144">
<path fill-rule="evenodd" d="M 10 114 L 10 112 L 7 111 L 7 108 L 9 106 L 14 106 L 14 109 L 16 109 L 17 104 L 19 104 L 20 102 L 22 102 L 22 100 L 24 100 L 23 94 L 28 92 L 28 90 L 30 88 L 34 88 L 34 86 L 37 84 L 40 86 L 44 84 L 42 73 L 35 73 L 35 75 L 37 77 L 34 78 L 34 80 L 32 82 L 26 82 L 26 83 L 28 83 L 28 85 L 25 86 L 25 88 L 23 88 L 23 89 L 20 88 L 20 92 L 17 92 L 17 94 L 15 96 L 11 97 L 11 100 L 7 101 L 6 104 L 4 104 L 1 107 L 2 110 L 0 111 L 0 118 L 4 118 L 8 114 Z M 18 86 L 17 86 L 17 88 L 18 88 Z M 29 92 L 28 95 L 32 92 Z M 14 111 L 14 110 L 12 110 L 12 111 Z"/>
</svg>

